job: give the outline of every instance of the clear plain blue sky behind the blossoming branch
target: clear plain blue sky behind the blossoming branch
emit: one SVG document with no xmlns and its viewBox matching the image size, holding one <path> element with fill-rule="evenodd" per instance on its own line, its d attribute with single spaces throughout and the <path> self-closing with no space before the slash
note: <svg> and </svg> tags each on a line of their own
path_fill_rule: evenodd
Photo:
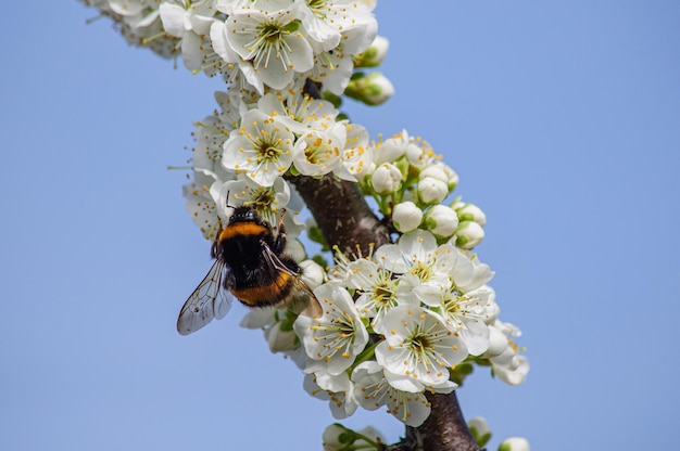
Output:
<svg viewBox="0 0 680 451">
<path fill-rule="evenodd" d="M 680 2 L 381 0 L 406 128 L 488 216 L 481 259 L 531 372 L 479 371 L 467 417 L 533 450 L 670 449 L 680 417 Z M 426 2 L 423 2 L 425 5 Z M 210 267 L 184 209 L 215 79 L 128 48 L 75 1 L 0 28 L 0 437 L 7 450 L 320 449 L 333 420 L 262 334 L 175 320 Z M 372 424 L 390 441 L 403 426 Z"/>
</svg>

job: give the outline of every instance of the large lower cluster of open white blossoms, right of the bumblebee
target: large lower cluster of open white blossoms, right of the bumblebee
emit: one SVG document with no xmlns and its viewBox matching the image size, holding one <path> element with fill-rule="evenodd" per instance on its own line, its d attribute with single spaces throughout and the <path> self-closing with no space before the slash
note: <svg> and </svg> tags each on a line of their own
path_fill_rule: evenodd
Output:
<svg viewBox="0 0 680 451">
<path fill-rule="evenodd" d="M 323 317 L 293 323 L 310 391 L 331 400 L 336 417 L 386 405 L 418 426 L 430 412 L 425 392 L 451 392 L 451 371 L 468 358 L 488 359 L 511 384 L 526 376 L 526 360 L 499 328 L 493 272 L 475 256 L 415 230 L 367 258 L 338 261 L 314 291 Z M 499 332 L 505 346 L 495 348 Z"/>
</svg>

